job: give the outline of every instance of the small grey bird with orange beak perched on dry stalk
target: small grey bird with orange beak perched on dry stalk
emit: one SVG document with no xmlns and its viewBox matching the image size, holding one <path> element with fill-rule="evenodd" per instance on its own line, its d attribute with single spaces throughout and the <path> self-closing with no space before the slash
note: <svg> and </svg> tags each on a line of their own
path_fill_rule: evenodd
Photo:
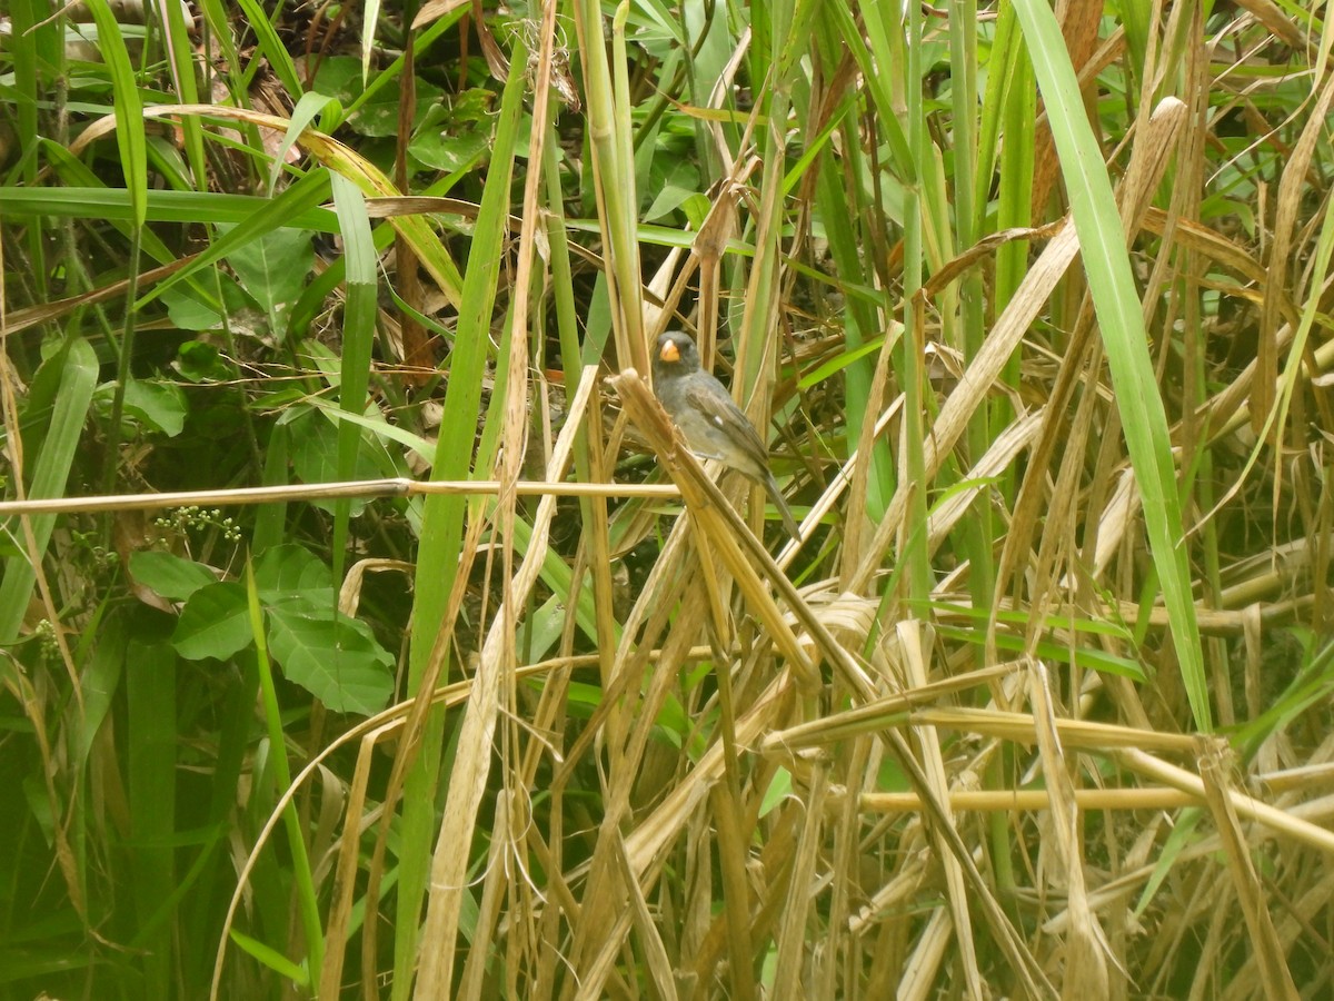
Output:
<svg viewBox="0 0 1334 1001">
<path fill-rule="evenodd" d="M 716 459 L 755 480 L 774 502 L 794 539 L 800 529 L 768 468 L 768 448 L 731 394 L 699 366 L 699 350 L 687 334 L 668 330 L 654 350 L 654 392 L 691 451 Z"/>
</svg>

